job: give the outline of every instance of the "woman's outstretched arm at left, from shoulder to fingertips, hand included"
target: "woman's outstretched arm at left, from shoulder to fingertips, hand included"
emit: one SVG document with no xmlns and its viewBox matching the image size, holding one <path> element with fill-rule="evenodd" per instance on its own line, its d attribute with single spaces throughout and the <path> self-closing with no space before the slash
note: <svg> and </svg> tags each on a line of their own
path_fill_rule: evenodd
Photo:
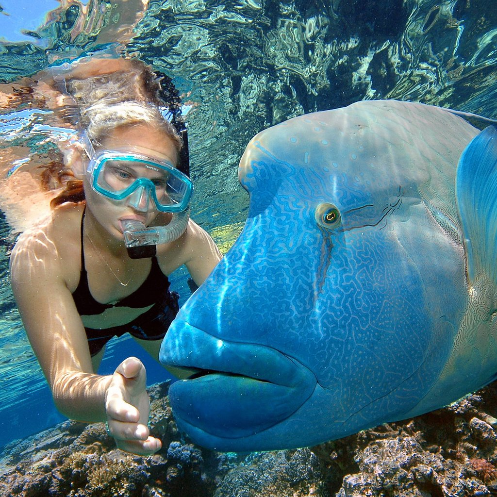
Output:
<svg viewBox="0 0 497 497">
<path fill-rule="evenodd" d="M 128 358 L 113 375 L 93 373 L 83 323 L 67 286 L 67 269 L 54 242 L 44 230 L 25 233 L 10 260 L 14 297 L 57 409 L 72 419 L 107 421 L 123 450 L 159 450 L 160 440 L 150 437 L 147 428 L 145 368 L 138 359 Z"/>
</svg>

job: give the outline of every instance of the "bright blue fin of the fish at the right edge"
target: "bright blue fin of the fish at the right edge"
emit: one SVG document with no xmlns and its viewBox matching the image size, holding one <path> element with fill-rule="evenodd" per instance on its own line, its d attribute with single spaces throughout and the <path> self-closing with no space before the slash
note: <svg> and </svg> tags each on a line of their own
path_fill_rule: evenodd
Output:
<svg viewBox="0 0 497 497">
<path fill-rule="evenodd" d="M 468 276 L 481 272 L 497 283 L 497 127 L 466 147 L 456 172 L 456 201 L 468 258 Z"/>
</svg>

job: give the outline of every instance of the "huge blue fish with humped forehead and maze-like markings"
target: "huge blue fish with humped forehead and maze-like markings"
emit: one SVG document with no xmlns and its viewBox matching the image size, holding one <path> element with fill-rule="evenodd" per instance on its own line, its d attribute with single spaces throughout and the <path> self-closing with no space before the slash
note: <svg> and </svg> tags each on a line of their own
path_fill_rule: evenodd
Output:
<svg viewBox="0 0 497 497">
<path fill-rule="evenodd" d="M 224 451 L 300 447 L 442 407 L 497 373 L 497 129 L 358 102 L 249 143 L 235 245 L 161 360 L 178 425 Z"/>
</svg>

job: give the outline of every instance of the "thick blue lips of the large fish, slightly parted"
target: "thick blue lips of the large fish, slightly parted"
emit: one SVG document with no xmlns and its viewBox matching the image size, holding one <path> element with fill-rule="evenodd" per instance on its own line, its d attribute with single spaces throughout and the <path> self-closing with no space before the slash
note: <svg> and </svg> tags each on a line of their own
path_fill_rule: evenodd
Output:
<svg viewBox="0 0 497 497">
<path fill-rule="evenodd" d="M 216 450 L 285 421 L 317 384 L 311 370 L 274 348 L 224 340 L 177 320 L 160 360 L 200 370 L 171 385 L 169 403 L 179 427 Z"/>
</svg>

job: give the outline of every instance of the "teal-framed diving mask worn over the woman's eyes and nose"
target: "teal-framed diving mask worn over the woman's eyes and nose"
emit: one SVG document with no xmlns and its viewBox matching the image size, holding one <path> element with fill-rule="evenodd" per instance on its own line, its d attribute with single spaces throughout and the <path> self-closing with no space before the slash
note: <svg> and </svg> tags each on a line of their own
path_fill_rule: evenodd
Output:
<svg viewBox="0 0 497 497">
<path fill-rule="evenodd" d="M 97 193 L 112 200 L 129 197 L 137 210 L 147 210 L 153 200 L 160 212 L 184 211 L 193 191 L 190 178 L 172 164 L 131 152 L 101 151 L 86 173 Z"/>
</svg>

